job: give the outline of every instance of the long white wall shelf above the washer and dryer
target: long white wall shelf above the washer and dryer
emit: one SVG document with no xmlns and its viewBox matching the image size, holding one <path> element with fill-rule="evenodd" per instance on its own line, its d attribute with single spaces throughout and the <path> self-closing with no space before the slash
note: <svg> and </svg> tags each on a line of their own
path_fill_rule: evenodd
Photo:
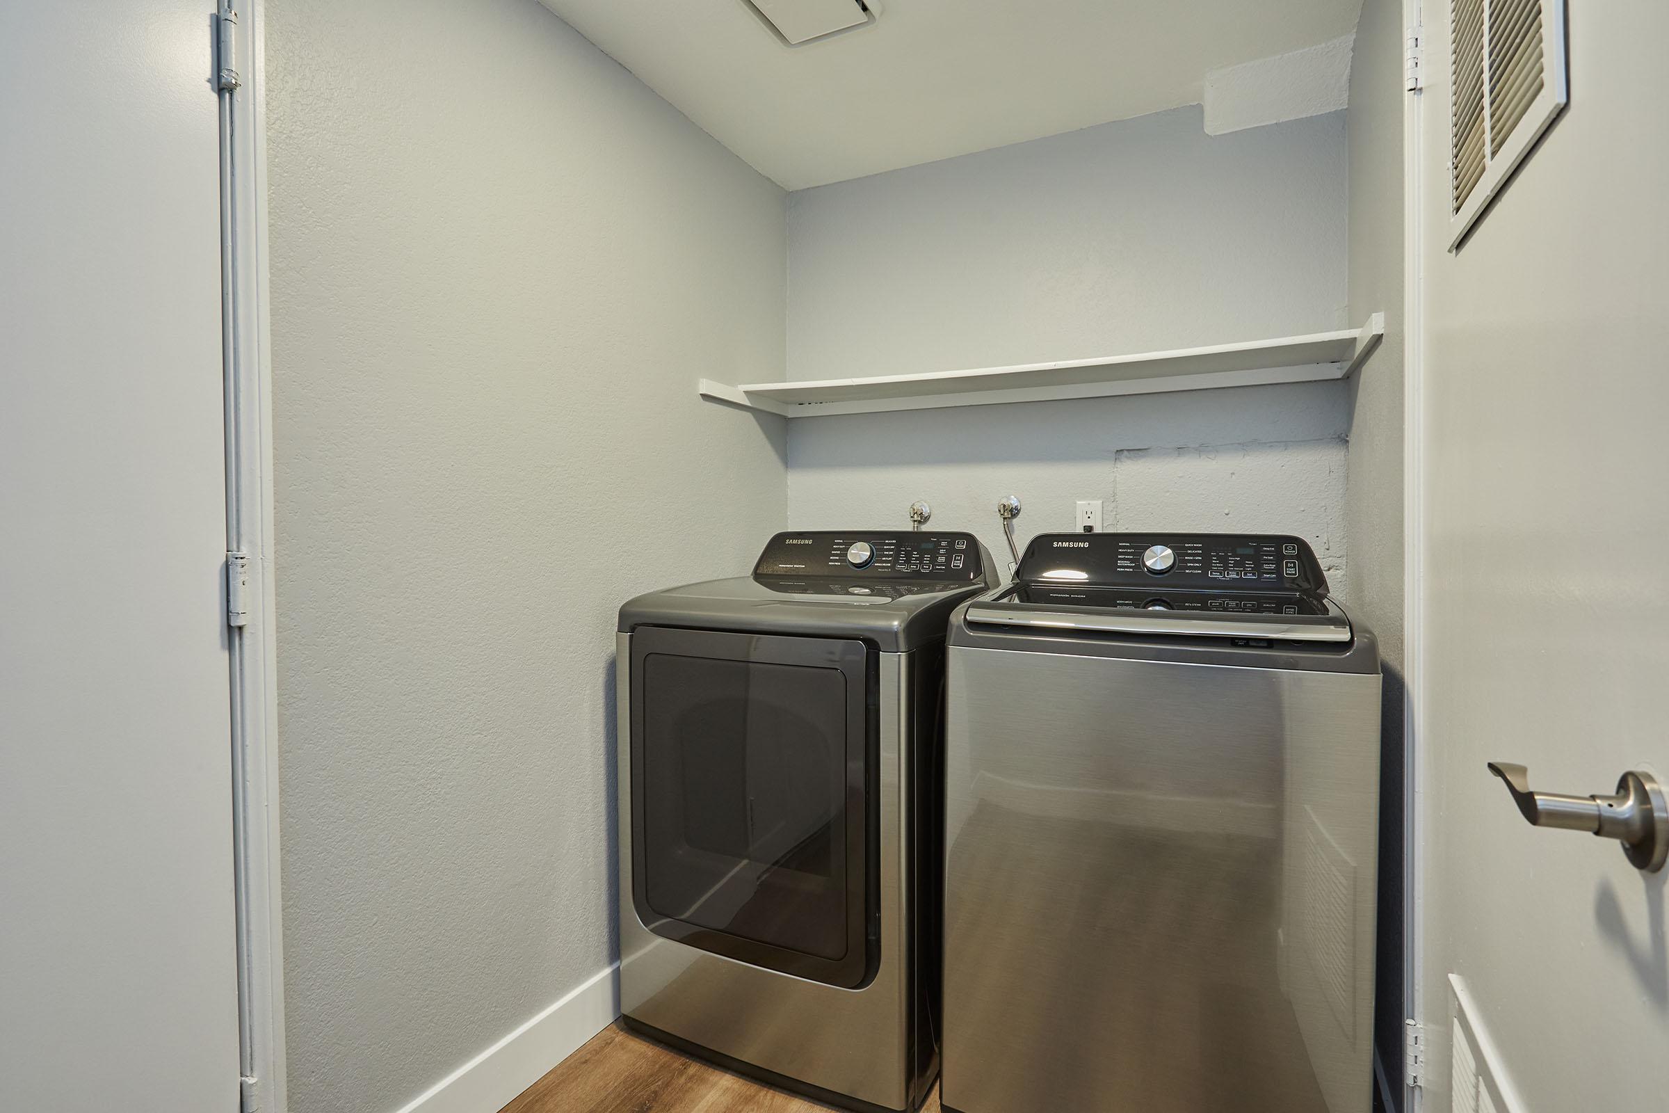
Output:
<svg viewBox="0 0 1669 1113">
<path fill-rule="evenodd" d="M 744 382 L 734 387 L 703 379 L 701 397 L 783 417 L 828 417 L 946 405 L 1212 390 L 1272 382 L 1325 382 L 1344 379 L 1360 367 L 1384 335 L 1385 315 L 1374 314 L 1360 329 L 1056 364 L 868 379 Z"/>
</svg>

